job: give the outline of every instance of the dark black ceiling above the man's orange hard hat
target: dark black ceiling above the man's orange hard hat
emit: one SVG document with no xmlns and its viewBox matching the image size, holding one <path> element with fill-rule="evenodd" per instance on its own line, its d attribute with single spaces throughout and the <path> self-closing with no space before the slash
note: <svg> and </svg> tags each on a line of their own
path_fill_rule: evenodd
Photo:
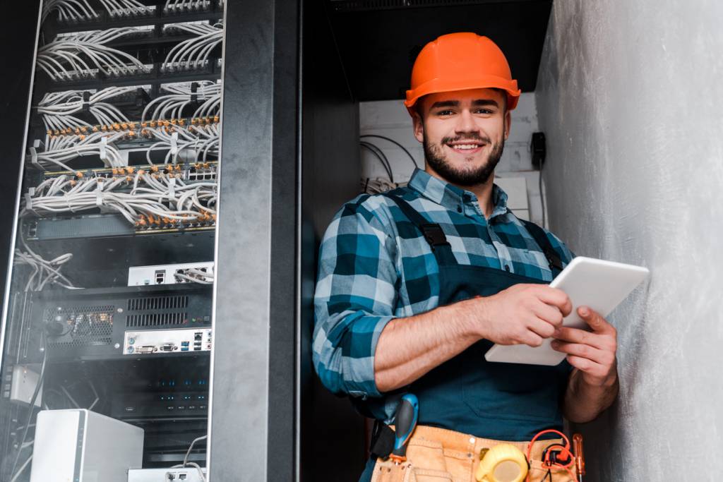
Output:
<svg viewBox="0 0 723 482">
<path fill-rule="evenodd" d="M 452 32 L 494 40 L 520 88 L 531 92 L 551 7 L 552 0 L 328 0 L 351 95 L 359 101 L 404 98 L 416 54 Z"/>
</svg>

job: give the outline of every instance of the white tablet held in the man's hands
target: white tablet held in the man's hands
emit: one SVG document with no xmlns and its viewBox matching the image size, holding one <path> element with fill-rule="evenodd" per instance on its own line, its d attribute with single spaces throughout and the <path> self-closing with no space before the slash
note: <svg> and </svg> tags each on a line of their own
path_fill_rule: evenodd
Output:
<svg viewBox="0 0 723 482">
<path fill-rule="evenodd" d="M 648 274 L 647 268 L 633 264 L 576 257 L 549 285 L 565 291 L 573 303 L 573 311 L 565 317 L 563 324 L 589 330 L 586 322 L 578 316 L 578 306 L 589 306 L 607 317 Z M 555 366 L 565 359 L 565 353 L 553 350 L 550 342 L 552 338 L 547 338 L 539 347 L 496 344 L 487 350 L 484 358 L 504 363 Z"/>
</svg>

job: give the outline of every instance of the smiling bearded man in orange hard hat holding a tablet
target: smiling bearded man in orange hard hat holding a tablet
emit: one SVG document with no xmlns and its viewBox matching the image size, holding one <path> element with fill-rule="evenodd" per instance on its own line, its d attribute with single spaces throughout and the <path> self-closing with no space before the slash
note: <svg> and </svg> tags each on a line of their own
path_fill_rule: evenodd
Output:
<svg viewBox="0 0 723 482">
<path fill-rule="evenodd" d="M 520 91 L 499 48 L 474 33 L 442 35 L 415 61 L 405 105 L 425 169 L 406 188 L 344 205 L 320 249 L 314 361 L 322 382 L 364 415 L 393 423 L 404 393 L 419 400 L 410 465 L 367 464 L 368 481 L 469 481 L 480 449 L 526 449 L 536 434 L 596 418 L 617 395 L 615 328 L 587 307 L 591 332 L 562 327 L 570 299 L 547 283 L 573 254 L 506 207 L 493 184 Z M 559 366 L 489 363 L 493 343 L 553 347 Z M 531 481 L 552 442 L 531 449 Z M 426 477 L 426 478 L 425 478 Z M 412 479 L 414 480 L 414 479 Z"/>
</svg>

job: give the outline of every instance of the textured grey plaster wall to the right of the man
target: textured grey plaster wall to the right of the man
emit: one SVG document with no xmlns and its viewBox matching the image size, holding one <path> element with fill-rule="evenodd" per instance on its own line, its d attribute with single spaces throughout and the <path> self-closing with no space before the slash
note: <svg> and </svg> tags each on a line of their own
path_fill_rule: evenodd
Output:
<svg viewBox="0 0 723 482">
<path fill-rule="evenodd" d="M 713 481 L 723 449 L 723 2 L 556 0 L 537 85 L 550 226 L 643 264 L 589 481 Z"/>
</svg>

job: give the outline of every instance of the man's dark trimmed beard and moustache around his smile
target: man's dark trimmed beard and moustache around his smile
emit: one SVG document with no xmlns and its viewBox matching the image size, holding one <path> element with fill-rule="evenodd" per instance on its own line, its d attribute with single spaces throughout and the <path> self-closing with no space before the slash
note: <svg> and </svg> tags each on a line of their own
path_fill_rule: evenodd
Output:
<svg viewBox="0 0 723 482">
<path fill-rule="evenodd" d="M 447 160 L 442 153 L 442 146 L 447 145 L 449 142 L 456 142 L 462 139 L 485 142 L 487 145 L 492 144 L 489 138 L 466 134 L 455 138 L 444 137 L 440 145 L 434 145 L 432 142 L 429 142 L 427 136 L 424 136 L 424 159 L 427 160 L 427 163 L 436 173 L 451 184 L 471 187 L 486 183 L 489 176 L 495 172 L 495 167 L 497 167 L 497 163 L 500 162 L 500 158 L 502 158 L 502 150 L 505 149 L 505 139 L 502 138 L 500 142 L 492 144 L 492 152 L 489 152 L 486 163 L 474 169 L 460 169 L 455 168 Z"/>
</svg>

